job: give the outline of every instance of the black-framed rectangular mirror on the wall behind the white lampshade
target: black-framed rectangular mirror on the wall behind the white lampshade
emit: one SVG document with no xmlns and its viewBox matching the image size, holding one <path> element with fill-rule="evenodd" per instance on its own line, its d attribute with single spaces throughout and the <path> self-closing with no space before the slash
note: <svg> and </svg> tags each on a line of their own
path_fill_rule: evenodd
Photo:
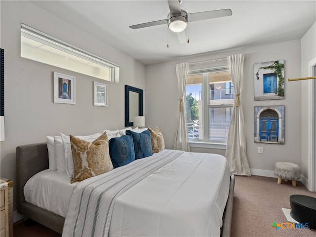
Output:
<svg viewBox="0 0 316 237">
<path fill-rule="evenodd" d="M 125 85 L 125 127 L 133 126 L 134 116 L 144 116 L 144 91 Z"/>
</svg>

